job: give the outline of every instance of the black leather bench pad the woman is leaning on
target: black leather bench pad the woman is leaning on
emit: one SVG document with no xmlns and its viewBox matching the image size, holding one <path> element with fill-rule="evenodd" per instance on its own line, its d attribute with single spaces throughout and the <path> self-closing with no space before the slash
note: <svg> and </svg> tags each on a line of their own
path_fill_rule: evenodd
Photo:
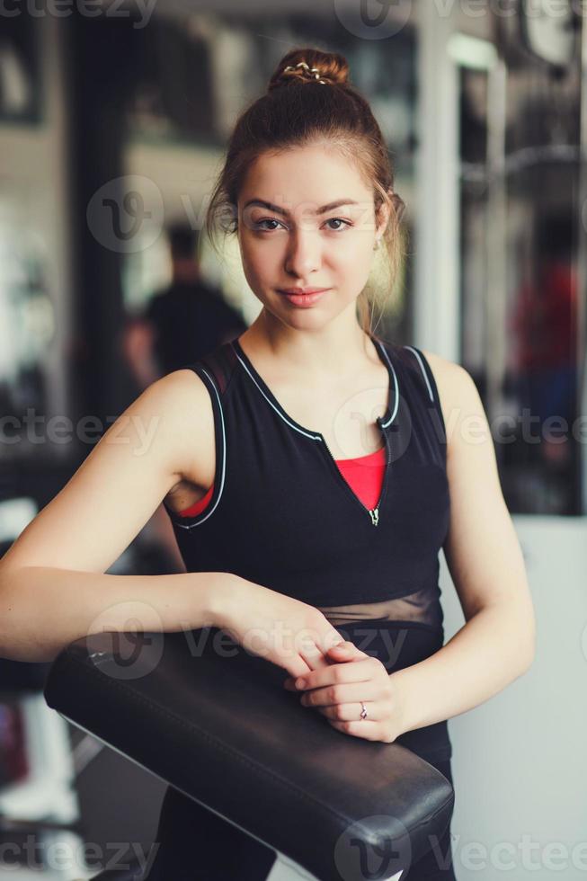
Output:
<svg viewBox="0 0 587 881">
<path fill-rule="evenodd" d="M 286 676 L 217 627 L 106 632 L 58 654 L 44 695 L 320 881 L 406 870 L 449 823 L 449 781 L 399 744 L 337 731 Z"/>
</svg>

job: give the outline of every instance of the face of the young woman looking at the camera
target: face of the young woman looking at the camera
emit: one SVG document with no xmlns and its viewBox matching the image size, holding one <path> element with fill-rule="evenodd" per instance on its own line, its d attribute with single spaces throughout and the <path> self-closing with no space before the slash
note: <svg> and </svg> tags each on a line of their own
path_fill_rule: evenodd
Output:
<svg viewBox="0 0 587 881">
<path fill-rule="evenodd" d="M 372 191 L 334 150 L 262 154 L 249 168 L 238 198 L 245 278 L 265 310 L 287 325 L 316 328 L 347 308 L 354 316 L 376 233 Z M 327 290 L 309 302 L 282 293 L 292 288 Z"/>
</svg>

